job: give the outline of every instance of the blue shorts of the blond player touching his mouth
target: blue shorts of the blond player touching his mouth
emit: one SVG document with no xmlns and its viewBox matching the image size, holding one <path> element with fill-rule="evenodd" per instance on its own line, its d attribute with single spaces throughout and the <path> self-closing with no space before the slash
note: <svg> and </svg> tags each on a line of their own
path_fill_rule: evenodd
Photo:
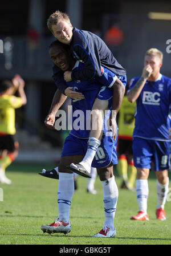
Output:
<svg viewBox="0 0 171 256">
<path fill-rule="evenodd" d="M 154 170 L 169 169 L 169 142 L 141 139 L 133 137 L 133 161 L 136 168 L 151 168 L 154 162 Z"/>
</svg>

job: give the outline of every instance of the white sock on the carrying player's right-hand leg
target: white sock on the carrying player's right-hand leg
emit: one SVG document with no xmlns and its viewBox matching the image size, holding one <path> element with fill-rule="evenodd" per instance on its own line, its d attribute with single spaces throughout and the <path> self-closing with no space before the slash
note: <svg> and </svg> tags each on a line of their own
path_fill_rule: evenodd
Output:
<svg viewBox="0 0 171 256">
<path fill-rule="evenodd" d="M 103 185 L 103 202 L 105 222 L 104 226 L 114 230 L 115 211 L 118 198 L 118 189 L 115 182 L 115 177 L 111 177 L 106 181 L 101 181 Z"/>
</svg>

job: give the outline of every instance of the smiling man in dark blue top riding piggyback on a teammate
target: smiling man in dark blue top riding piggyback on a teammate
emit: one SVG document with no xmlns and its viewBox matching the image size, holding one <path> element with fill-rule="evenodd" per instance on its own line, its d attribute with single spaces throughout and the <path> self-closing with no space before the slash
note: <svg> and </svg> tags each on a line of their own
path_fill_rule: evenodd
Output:
<svg viewBox="0 0 171 256">
<path fill-rule="evenodd" d="M 72 55 L 84 66 L 79 70 L 69 70 L 64 72 L 64 78 L 61 70 L 56 65 L 54 66 L 55 84 L 59 90 L 74 99 L 81 99 L 82 94 L 76 94 L 72 88 L 67 88 L 66 82 L 96 78 L 103 86 L 113 88 L 113 104 L 111 114 L 109 117 L 113 138 L 116 140 L 116 115 L 120 108 L 121 101 L 123 100 L 125 85 L 127 83 L 126 71 L 114 58 L 112 52 L 109 50 L 104 41 L 99 36 L 89 32 L 73 28 L 70 18 L 66 13 L 59 10 L 51 14 L 47 21 L 48 29 L 52 34 L 62 43 L 70 47 Z M 104 71 L 110 70 L 110 75 Z M 114 97 L 115 95 L 115 97 Z M 82 175 L 86 171 L 90 173 L 91 163 L 100 145 L 103 135 L 103 118 L 101 111 L 107 109 L 105 101 L 100 99 L 95 100 L 92 109 L 95 112 L 94 121 L 97 124 L 97 129 L 92 129 L 89 135 L 88 148 L 84 159 L 79 162 L 71 164 L 71 170 Z M 91 147 L 93 141 L 94 147 Z M 90 143 L 90 144 L 89 144 Z"/>
</svg>

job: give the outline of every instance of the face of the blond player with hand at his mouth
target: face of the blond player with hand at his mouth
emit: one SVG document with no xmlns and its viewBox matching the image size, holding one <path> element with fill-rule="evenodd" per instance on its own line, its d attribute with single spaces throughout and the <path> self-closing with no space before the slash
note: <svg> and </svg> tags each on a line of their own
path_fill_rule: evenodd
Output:
<svg viewBox="0 0 171 256">
<path fill-rule="evenodd" d="M 160 68 L 162 65 L 162 62 L 160 58 L 156 56 L 149 56 L 146 55 L 144 59 L 144 66 L 150 65 L 152 67 L 152 75 L 156 75 L 157 73 L 160 73 Z"/>
</svg>

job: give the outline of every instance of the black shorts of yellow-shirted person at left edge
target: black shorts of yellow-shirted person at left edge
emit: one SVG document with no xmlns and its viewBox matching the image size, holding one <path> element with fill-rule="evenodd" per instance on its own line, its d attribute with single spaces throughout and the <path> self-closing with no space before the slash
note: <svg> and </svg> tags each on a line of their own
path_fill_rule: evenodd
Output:
<svg viewBox="0 0 171 256">
<path fill-rule="evenodd" d="M 13 152 L 17 148 L 17 140 L 14 135 L 0 136 L 0 150 L 7 149 Z"/>
</svg>

